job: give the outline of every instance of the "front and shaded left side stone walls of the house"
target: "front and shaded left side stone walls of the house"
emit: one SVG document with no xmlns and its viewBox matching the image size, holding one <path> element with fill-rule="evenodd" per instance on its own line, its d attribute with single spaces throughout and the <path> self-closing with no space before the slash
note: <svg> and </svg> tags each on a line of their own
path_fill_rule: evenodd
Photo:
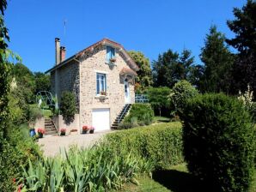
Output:
<svg viewBox="0 0 256 192">
<path fill-rule="evenodd" d="M 120 76 L 121 70 L 130 68 L 125 62 L 125 57 L 116 49 L 116 66 L 107 63 L 106 45 L 98 45 L 91 51 L 79 57 L 79 62 L 66 63 L 51 72 L 52 93 L 55 94 L 58 85 L 58 102 L 63 91 L 76 93 L 76 105 L 79 112 L 79 128 L 82 132 L 83 125 L 92 125 L 92 112 L 94 109 L 108 108 L 110 110 L 110 123 L 113 124 L 120 111 L 125 106 L 124 78 Z M 57 78 L 56 78 L 57 71 Z M 106 74 L 107 97 L 101 99 L 96 95 L 96 74 Z M 58 81 L 58 82 L 56 82 Z M 135 102 L 134 83 L 129 82 L 130 103 Z M 76 123 L 77 124 L 77 123 Z M 111 126 L 110 124 L 110 126 Z M 73 128 L 75 129 L 75 128 Z M 95 128 L 97 129 L 97 128 Z"/>
</svg>

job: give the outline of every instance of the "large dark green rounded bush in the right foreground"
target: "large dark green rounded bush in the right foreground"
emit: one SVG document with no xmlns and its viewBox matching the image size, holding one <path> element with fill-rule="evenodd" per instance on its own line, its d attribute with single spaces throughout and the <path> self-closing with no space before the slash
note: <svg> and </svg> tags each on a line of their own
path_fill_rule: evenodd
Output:
<svg viewBox="0 0 256 192">
<path fill-rule="evenodd" d="M 243 104 L 222 93 L 199 95 L 188 101 L 180 116 L 189 171 L 215 191 L 247 191 L 255 131 Z"/>
</svg>

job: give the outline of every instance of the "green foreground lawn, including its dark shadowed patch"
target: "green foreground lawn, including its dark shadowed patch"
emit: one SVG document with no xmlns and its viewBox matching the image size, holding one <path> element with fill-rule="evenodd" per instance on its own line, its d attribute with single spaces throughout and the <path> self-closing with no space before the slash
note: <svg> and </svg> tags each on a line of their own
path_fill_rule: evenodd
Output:
<svg viewBox="0 0 256 192">
<path fill-rule="evenodd" d="M 121 191 L 153 191 L 153 192 L 187 192 L 187 191 L 210 191 L 204 187 L 200 180 L 188 173 L 186 164 L 170 167 L 168 170 L 153 172 L 153 178 L 146 176 L 137 178 L 138 185 L 127 183 Z M 256 192 L 256 170 L 254 172 L 253 183 L 249 192 Z"/>
</svg>

